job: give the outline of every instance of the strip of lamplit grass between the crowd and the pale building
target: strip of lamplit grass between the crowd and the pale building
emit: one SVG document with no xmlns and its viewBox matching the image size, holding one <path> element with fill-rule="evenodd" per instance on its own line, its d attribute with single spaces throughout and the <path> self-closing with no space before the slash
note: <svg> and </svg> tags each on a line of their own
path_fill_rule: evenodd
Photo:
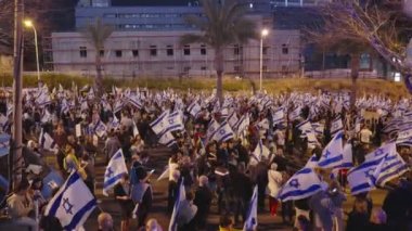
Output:
<svg viewBox="0 0 412 231">
<path fill-rule="evenodd" d="M 78 86 L 92 85 L 92 78 L 72 76 L 63 74 L 43 73 L 41 79 L 51 88 L 59 87 L 61 84 L 64 88 L 70 88 L 72 82 Z M 194 91 L 213 90 L 216 87 L 215 78 L 139 78 L 139 79 L 121 79 L 105 78 L 103 80 L 105 90 L 111 90 L 112 86 L 116 87 L 146 87 L 149 89 L 166 90 L 168 88 L 185 91 L 188 89 Z M 254 80 L 258 86 L 258 80 Z M 0 74 L 0 84 L 11 87 L 13 78 L 10 74 Z M 27 87 L 37 86 L 36 76 L 24 76 L 23 85 Z M 308 79 L 308 78 L 282 78 L 263 80 L 263 89 L 270 94 L 285 92 L 312 92 L 319 90 L 329 91 L 349 91 L 351 81 L 349 79 Z M 223 89 L 229 92 L 250 92 L 252 85 L 248 79 L 234 79 L 227 77 L 223 79 Z M 402 82 L 394 82 L 383 79 L 359 79 L 358 93 L 374 93 L 390 98 L 409 97 L 409 92 Z"/>
</svg>

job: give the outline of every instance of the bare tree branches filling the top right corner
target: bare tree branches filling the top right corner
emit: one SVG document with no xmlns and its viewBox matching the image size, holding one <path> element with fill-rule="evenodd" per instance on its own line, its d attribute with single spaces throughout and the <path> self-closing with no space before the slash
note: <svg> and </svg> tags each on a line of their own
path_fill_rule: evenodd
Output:
<svg viewBox="0 0 412 231">
<path fill-rule="evenodd" d="M 404 61 L 411 20 L 401 11 L 388 0 L 339 0 L 322 9 L 331 25 L 368 43 L 398 72 L 410 76 L 412 68 Z"/>
</svg>

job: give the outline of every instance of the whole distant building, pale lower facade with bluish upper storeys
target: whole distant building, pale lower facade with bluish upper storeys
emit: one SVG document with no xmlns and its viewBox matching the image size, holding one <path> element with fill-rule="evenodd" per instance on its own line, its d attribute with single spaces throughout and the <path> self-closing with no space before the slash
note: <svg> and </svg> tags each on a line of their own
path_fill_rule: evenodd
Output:
<svg viewBox="0 0 412 231">
<path fill-rule="evenodd" d="M 310 9 L 329 0 L 240 0 L 248 5 L 247 16 L 257 29 L 270 30 L 263 39 L 265 76 L 300 75 L 304 67 L 300 29 L 309 23 Z M 101 17 L 116 31 L 107 39 L 102 60 L 104 74 L 118 77 L 215 75 L 214 52 L 205 44 L 179 43 L 181 35 L 196 33 L 184 22 L 202 16 L 197 1 L 170 7 L 149 4 L 121 7 L 127 0 L 80 0 L 76 8 L 76 30 Z M 156 2 L 153 0 L 153 2 Z M 181 1 L 184 2 L 184 1 Z M 113 4 L 116 4 L 114 7 Z M 126 4 L 126 3 L 125 3 Z M 298 12 L 298 13 L 297 13 Z M 305 13 L 305 14 L 304 14 Z M 306 16 L 297 16 L 306 15 Z M 44 42 L 47 69 L 94 75 L 93 46 L 81 34 L 53 33 Z M 258 76 L 260 40 L 231 44 L 224 52 L 224 72 L 233 76 Z"/>
</svg>

